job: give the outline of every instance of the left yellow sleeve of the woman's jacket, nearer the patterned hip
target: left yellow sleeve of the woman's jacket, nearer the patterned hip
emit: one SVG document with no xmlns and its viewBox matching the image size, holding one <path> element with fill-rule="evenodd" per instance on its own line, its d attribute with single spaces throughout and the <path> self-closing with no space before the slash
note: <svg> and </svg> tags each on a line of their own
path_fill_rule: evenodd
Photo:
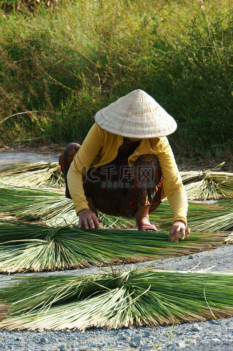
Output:
<svg viewBox="0 0 233 351">
<path fill-rule="evenodd" d="M 69 167 L 67 184 L 77 214 L 79 211 L 84 210 L 84 208 L 89 208 L 82 182 L 86 171 L 99 154 L 101 145 L 101 131 L 98 125 L 94 124 Z"/>
</svg>

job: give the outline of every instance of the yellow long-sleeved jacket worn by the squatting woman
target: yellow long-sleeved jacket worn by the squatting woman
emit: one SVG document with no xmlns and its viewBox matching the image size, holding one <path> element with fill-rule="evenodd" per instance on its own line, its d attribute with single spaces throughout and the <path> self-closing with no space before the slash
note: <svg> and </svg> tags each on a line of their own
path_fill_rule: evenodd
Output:
<svg viewBox="0 0 233 351">
<path fill-rule="evenodd" d="M 122 144 L 123 137 L 103 130 L 96 123 L 89 130 L 67 174 L 69 193 L 77 214 L 89 208 L 82 186 L 86 171 L 91 165 L 100 167 L 113 161 Z M 154 154 L 158 158 L 163 179 L 161 199 L 167 196 L 173 211 L 173 223 L 182 220 L 187 225 L 187 196 L 167 138 L 141 139 L 140 145 L 128 158 L 128 165 L 132 167 L 135 160 L 145 154 Z"/>
</svg>

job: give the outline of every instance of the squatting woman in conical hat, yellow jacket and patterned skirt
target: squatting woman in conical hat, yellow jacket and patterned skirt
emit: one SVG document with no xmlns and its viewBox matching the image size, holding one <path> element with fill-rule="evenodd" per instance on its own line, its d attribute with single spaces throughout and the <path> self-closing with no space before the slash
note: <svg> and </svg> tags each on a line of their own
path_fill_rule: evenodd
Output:
<svg viewBox="0 0 233 351">
<path fill-rule="evenodd" d="M 187 197 L 165 135 L 175 120 L 147 93 L 134 90 L 98 111 L 82 146 L 72 143 L 59 159 L 66 197 L 80 228 L 100 227 L 97 211 L 135 217 L 138 230 L 157 230 L 149 214 L 167 196 L 173 210 L 169 241 L 189 235 Z"/>
</svg>

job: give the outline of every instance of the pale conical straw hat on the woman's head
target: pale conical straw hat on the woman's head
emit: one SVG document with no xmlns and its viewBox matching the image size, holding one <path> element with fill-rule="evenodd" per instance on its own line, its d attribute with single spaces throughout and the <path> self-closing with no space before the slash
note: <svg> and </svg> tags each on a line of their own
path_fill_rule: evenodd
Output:
<svg viewBox="0 0 233 351">
<path fill-rule="evenodd" d="M 175 120 L 145 91 L 134 90 L 95 115 L 102 129 L 127 138 L 158 138 L 177 129 Z"/>
</svg>

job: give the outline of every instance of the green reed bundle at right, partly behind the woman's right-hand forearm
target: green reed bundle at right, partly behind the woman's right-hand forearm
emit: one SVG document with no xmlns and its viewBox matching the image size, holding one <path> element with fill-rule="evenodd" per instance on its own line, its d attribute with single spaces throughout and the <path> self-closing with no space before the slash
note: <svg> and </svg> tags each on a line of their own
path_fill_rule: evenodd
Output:
<svg viewBox="0 0 233 351">
<path fill-rule="evenodd" d="M 173 212 L 168 201 L 163 201 L 149 218 L 161 222 L 160 228 L 169 229 L 172 225 Z M 229 231 L 233 228 L 233 200 L 218 200 L 215 204 L 188 201 L 187 221 L 192 232 Z"/>
</svg>

